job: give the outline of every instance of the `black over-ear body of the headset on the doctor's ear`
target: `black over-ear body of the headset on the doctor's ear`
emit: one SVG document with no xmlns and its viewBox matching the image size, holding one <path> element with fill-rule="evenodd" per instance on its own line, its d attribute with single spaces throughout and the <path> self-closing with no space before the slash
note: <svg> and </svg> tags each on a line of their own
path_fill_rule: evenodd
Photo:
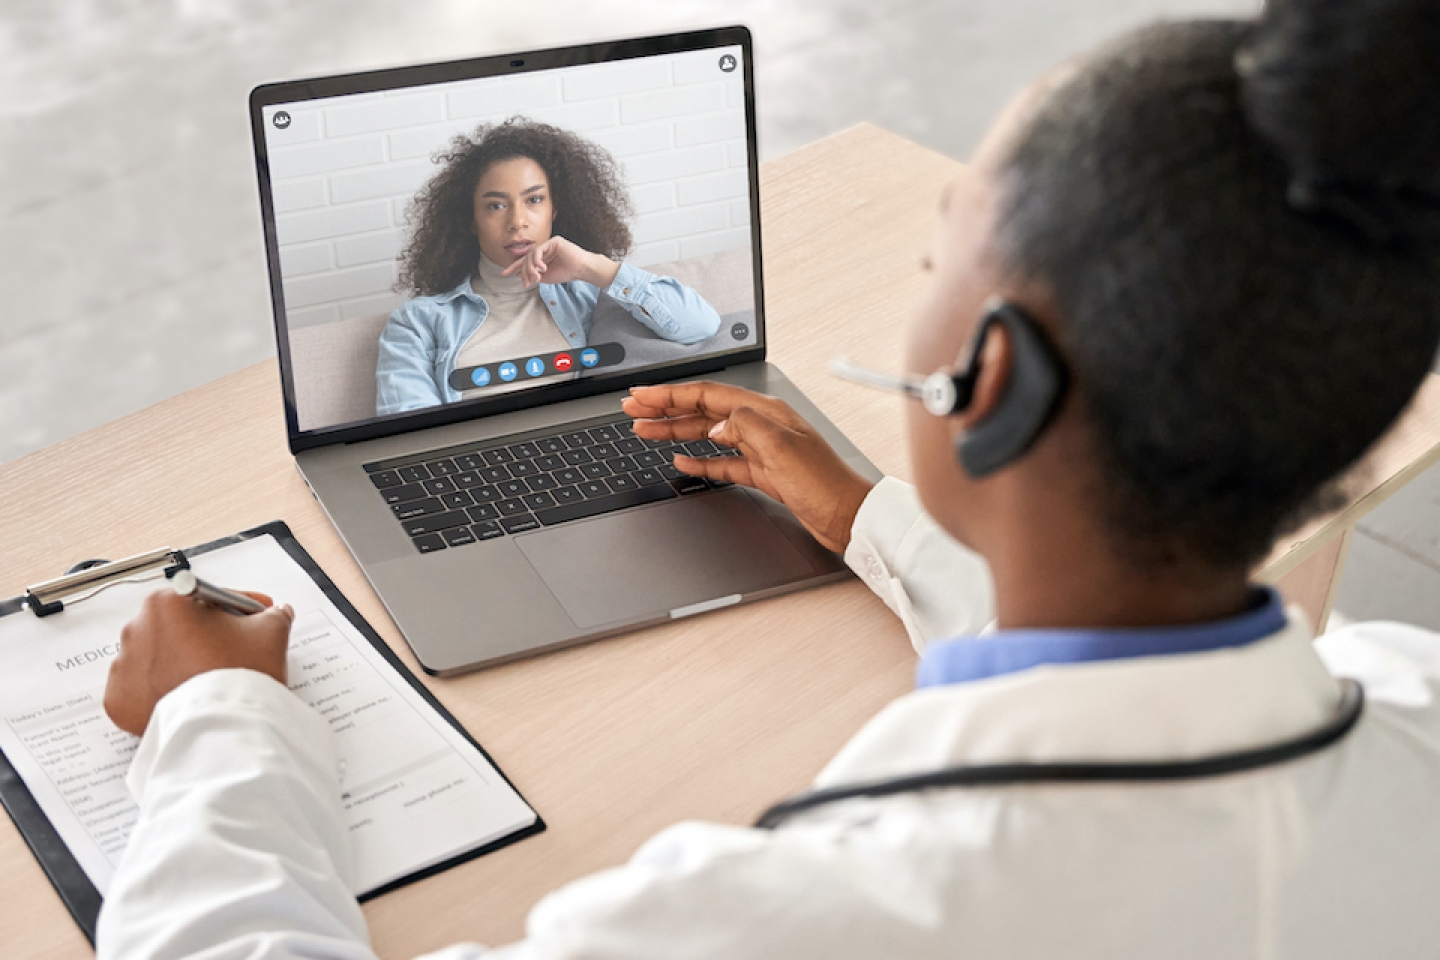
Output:
<svg viewBox="0 0 1440 960">
<path fill-rule="evenodd" d="M 1009 377 L 995 410 L 955 442 L 960 466 L 975 478 L 994 474 L 1028 450 L 1050 423 L 1070 383 L 1060 353 L 1035 318 L 1015 304 L 992 301 L 975 334 L 971 360 L 953 379 L 955 413 L 971 404 L 985 338 L 996 325 L 1009 334 Z"/>
</svg>

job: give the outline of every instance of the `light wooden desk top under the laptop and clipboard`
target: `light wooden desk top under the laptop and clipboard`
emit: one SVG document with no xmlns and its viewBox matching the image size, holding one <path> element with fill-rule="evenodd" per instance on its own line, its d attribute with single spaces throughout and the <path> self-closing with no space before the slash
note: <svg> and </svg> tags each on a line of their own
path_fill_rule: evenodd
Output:
<svg viewBox="0 0 1440 960">
<path fill-rule="evenodd" d="M 837 381 L 835 354 L 900 368 L 930 222 L 952 160 L 857 127 L 762 170 L 770 353 L 887 474 L 909 476 L 900 400 Z M 1316 612 L 1345 533 L 1440 458 L 1440 379 L 1338 517 L 1276 551 Z M 285 448 L 274 363 L 264 363 L 0 466 L 0 592 L 85 557 L 203 543 L 289 522 L 360 612 L 420 674 L 310 497 Z M 239 584 L 242 586 L 242 584 Z M 366 905 L 374 946 L 410 957 L 456 940 L 518 937 L 557 885 L 626 859 L 683 819 L 752 820 L 802 790 L 887 701 L 912 688 L 900 623 L 860 583 L 834 584 L 562 651 L 458 679 L 435 695 L 491 751 L 550 829 Z M 6 957 L 88 948 L 10 820 L 0 818 Z"/>
</svg>

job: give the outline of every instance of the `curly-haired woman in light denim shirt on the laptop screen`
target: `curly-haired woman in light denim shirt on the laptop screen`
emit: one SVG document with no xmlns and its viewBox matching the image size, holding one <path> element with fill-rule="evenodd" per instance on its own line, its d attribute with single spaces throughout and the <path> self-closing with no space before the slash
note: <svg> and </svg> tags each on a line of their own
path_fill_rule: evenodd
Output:
<svg viewBox="0 0 1440 960">
<path fill-rule="evenodd" d="M 583 348 L 600 292 L 665 340 L 693 344 L 720 328 L 696 291 L 622 262 L 631 203 L 600 147 L 513 117 L 456 137 L 438 161 L 409 210 L 400 285 L 415 298 L 380 332 L 377 415 L 553 379 L 521 360 L 471 390 L 449 383 L 455 370 Z"/>
</svg>

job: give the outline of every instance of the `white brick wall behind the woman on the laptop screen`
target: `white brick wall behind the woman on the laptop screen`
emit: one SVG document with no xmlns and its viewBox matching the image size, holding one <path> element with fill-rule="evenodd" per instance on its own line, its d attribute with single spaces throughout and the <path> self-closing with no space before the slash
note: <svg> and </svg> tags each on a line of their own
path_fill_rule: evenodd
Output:
<svg viewBox="0 0 1440 960">
<path fill-rule="evenodd" d="M 740 49 L 730 50 L 737 59 Z M 482 122 L 523 114 L 593 140 L 624 167 L 636 265 L 750 242 L 744 88 L 719 50 L 441 83 L 265 112 L 289 324 L 393 309 L 405 209 L 431 155 Z"/>
</svg>

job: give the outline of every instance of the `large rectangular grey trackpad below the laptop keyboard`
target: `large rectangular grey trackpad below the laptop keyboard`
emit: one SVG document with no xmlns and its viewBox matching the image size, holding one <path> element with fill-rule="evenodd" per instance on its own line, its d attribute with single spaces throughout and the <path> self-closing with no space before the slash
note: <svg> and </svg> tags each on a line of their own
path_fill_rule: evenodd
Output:
<svg viewBox="0 0 1440 960">
<path fill-rule="evenodd" d="M 552 527 L 516 537 L 516 545 L 582 629 L 814 573 L 740 489 Z"/>
</svg>

